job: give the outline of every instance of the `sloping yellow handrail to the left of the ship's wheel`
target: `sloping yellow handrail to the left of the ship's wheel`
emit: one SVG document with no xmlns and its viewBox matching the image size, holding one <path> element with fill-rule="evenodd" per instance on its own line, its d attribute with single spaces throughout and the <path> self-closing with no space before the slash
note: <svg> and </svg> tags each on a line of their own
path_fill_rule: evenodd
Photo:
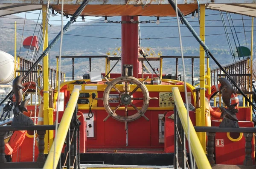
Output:
<svg viewBox="0 0 256 169">
<path fill-rule="evenodd" d="M 67 107 L 63 113 L 63 116 L 61 118 L 61 123 L 59 124 L 58 127 L 58 132 L 57 132 L 57 136 L 53 141 L 53 144 L 55 143 L 55 141 L 57 142 L 57 146 L 56 146 L 56 151 L 54 152 L 54 146 L 51 147 L 49 154 L 47 156 L 47 160 L 45 161 L 44 164 L 44 169 L 52 169 L 52 168 L 56 168 L 58 165 L 58 161 L 59 158 L 61 156 L 61 150 L 63 148 L 64 145 L 64 141 L 66 139 L 67 136 L 67 131 L 69 129 L 69 125 L 73 116 L 73 112 L 76 108 L 76 104 L 77 104 L 77 100 L 79 97 L 79 89 L 73 89 L 70 99 L 68 101 Z M 53 156 L 55 154 L 55 161 L 54 161 L 54 166 L 53 166 Z"/>
</svg>

